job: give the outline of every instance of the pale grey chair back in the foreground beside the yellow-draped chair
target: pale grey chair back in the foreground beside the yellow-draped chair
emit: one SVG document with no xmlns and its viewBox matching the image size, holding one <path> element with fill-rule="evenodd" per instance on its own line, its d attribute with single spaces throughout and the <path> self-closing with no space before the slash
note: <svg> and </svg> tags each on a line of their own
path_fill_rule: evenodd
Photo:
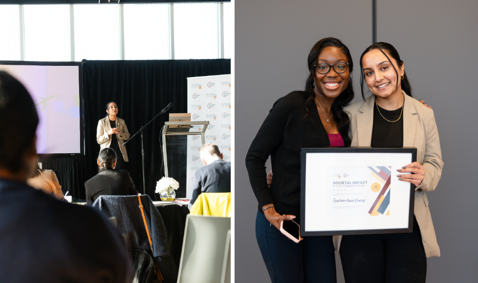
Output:
<svg viewBox="0 0 478 283">
<path fill-rule="evenodd" d="M 178 283 L 230 282 L 230 229 L 231 218 L 229 217 L 187 216 Z M 224 263 L 225 255 L 229 258 L 226 259 L 226 263 Z M 229 271 L 223 272 L 223 266 L 228 264 Z M 227 273 L 229 279 L 223 281 Z"/>
</svg>

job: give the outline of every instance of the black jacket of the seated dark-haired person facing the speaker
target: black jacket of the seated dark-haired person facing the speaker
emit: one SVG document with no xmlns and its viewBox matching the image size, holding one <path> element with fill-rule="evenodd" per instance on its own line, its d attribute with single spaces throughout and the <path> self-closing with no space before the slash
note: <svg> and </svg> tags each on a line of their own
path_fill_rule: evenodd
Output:
<svg viewBox="0 0 478 283">
<path fill-rule="evenodd" d="M 138 195 L 138 190 L 126 170 L 103 168 L 90 180 L 85 182 L 86 201 L 90 204 L 99 196 Z"/>
</svg>

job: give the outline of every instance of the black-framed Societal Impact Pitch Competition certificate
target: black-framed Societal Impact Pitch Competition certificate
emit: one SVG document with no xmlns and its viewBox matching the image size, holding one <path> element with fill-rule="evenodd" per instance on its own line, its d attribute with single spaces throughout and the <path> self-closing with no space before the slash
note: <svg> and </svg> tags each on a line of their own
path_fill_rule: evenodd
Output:
<svg viewBox="0 0 478 283">
<path fill-rule="evenodd" d="M 415 147 L 302 148 L 300 235 L 412 232 L 415 185 L 397 169 L 416 160 Z"/>
</svg>

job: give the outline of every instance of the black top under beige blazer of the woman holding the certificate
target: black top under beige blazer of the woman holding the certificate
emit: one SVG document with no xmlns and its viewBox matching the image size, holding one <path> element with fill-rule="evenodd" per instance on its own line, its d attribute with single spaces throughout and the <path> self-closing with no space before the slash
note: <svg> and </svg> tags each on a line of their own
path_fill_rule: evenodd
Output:
<svg viewBox="0 0 478 283">
<path fill-rule="evenodd" d="M 403 113 L 401 113 L 401 108 L 389 111 L 378 106 L 377 109 L 377 103 L 375 103 L 374 125 L 370 144 L 372 147 L 403 147 Z M 386 121 L 380 113 L 389 121 L 395 121 L 398 117 L 400 120 L 396 122 Z"/>
</svg>

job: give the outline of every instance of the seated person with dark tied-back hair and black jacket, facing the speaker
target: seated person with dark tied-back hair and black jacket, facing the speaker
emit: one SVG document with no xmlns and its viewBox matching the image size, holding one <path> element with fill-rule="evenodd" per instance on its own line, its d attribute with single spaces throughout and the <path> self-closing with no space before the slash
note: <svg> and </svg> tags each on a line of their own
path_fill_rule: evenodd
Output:
<svg viewBox="0 0 478 283">
<path fill-rule="evenodd" d="M 116 152 L 103 148 L 98 156 L 98 174 L 85 182 L 86 201 L 90 204 L 99 196 L 136 196 L 138 190 L 126 170 L 116 170 Z"/>
</svg>

